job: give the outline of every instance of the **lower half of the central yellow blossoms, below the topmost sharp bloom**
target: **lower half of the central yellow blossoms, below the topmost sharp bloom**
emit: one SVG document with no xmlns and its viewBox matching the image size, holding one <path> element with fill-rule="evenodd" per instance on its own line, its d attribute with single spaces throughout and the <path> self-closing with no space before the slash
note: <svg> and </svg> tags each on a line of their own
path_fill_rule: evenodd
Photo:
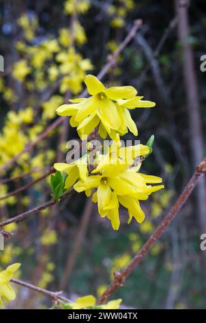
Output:
<svg viewBox="0 0 206 323">
<path fill-rule="evenodd" d="M 134 166 L 135 159 L 150 152 L 148 146 L 121 147 L 113 142 L 105 155 L 98 154 L 94 161 L 94 169 L 89 174 L 89 155 L 73 161 L 71 164 L 57 163 L 54 168 L 67 173 L 65 187 L 77 192 L 85 192 L 87 197 L 92 190 L 93 202 L 98 203 L 100 216 L 111 221 L 113 230 L 119 229 L 119 204 L 128 210 L 128 223 L 134 217 L 138 223 L 144 221 L 145 214 L 139 201 L 148 199 L 152 192 L 163 188 L 160 177 L 139 173 L 139 167 Z"/>
</svg>

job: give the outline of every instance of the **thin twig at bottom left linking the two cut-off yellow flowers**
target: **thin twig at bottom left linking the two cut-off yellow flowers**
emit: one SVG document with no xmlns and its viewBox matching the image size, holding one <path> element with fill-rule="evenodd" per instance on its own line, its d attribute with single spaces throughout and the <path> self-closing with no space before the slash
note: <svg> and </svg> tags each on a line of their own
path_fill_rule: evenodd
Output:
<svg viewBox="0 0 206 323">
<path fill-rule="evenodd" d="M 50 298 L 52 298 L 52 300 L 55 300 L 55 301 L 62 300 L 64 302 L 71 302 L 69 298 L 60 296 L 60 293 L 62 293 L 62 291 L 47 291 L 47 289 L 37 287 L 35 285 L 30 284 L 29 282 L 23 282 L 22 280 L 15 279 L 15 278 L 11 278 L 10 282 L 14 282 L 14 284 L 16 285 L 20 285 L 28 289 L 32 289 L 32 291 L 38 291 L 38 293 L 41 293 L 45 296 L 49 296 Z"/>
</svg>

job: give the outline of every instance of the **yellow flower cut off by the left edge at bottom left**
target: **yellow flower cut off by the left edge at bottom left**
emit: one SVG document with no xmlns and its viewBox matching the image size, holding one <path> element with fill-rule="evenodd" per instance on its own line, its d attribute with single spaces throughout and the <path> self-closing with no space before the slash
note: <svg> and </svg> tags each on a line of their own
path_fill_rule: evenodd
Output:
<svg viewBox="0 0 206 323">
<path fill-rule="evenodd" d="M 20 263 L 14 263 L 8 266 L 5 270 L 0 272 L 0 306 L 3 307 L 3 302 L 1 298 L 5 300 L 14 300 L 16 298 L 16 293 L 14 289 L 10 286 L 10 279 L 14 275 L 14 272 L 19 269 Z"/>
</svg>

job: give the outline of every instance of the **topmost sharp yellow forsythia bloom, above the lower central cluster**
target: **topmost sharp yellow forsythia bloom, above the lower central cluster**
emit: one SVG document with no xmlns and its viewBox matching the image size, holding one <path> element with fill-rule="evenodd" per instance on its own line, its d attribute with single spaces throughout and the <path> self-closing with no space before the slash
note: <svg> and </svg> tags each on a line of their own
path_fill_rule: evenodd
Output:
<svg viewBox="0 0 206 323">
<path fill-rule="evenodd" d="M 143 97 L 136 96 L 134 87 L 106 89 L 98 78 L 90 74 L 84 82 L 91 97 L 70 100 L 73 104 L 63 104 L 56 110 L 58 115 L 71 116 L 70 124 L 78 127 L 81 138 L 98 125 L 99 134 L 104 139 L 108 134 L 113 140 L 118 140 L 119 135 L 124 135 L 128 129 L 137 135 L 137 126 L 128 109 L 155 107 L 155 102 L 141 101 Z"/>
</svg>

